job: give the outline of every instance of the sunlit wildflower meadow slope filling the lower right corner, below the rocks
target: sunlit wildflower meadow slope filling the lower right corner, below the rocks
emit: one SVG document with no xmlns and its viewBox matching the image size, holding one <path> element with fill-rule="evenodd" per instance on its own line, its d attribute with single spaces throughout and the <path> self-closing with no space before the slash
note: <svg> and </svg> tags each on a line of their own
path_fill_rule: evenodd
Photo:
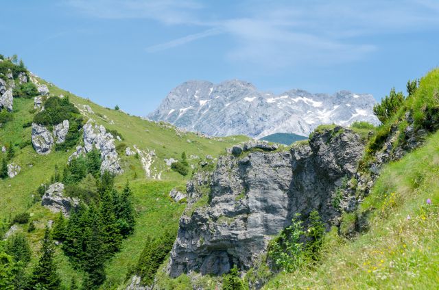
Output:
<svg viewBox="0 0 439 290">
<path fill-rule="evenodd" d="M 374 209 L 368 233 L 348 241 L 332 231 L 321 265 L 279 274 L 265 289 L 438 289 L 438 144 L 436 133 L 385 167 L 361 204 Z"/>
</svg>

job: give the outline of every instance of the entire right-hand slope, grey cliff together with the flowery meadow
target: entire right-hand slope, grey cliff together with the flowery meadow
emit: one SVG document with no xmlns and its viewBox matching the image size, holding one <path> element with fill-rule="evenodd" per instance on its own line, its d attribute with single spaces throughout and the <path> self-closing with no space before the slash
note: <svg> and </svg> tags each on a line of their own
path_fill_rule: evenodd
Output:
<svg viewBox="0 0 439 290">
<path fill-rule="evenodd" d="M 233 265 L 250 289 L 270 278 L 266 289 L 436 289 L 439 70 L 415 83 L 381 127 L 320 126 L 289 150 L 234 146 L 195 174 L 163 267 L 177 278 L 161 274 L 158 289 L 215 289 Z"/>
</svg>

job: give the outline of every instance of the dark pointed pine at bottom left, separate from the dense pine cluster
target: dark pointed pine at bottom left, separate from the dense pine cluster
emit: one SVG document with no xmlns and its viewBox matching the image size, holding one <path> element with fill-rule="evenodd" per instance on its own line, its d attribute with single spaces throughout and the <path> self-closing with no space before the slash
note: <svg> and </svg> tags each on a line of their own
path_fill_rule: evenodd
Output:
<svg viewBox="0 0 439 290">
<path fill-rule="evenodd" d="M 54 242 L 51 240 L 50 230 L 46 226 L 40 261 L 32 272 L 30 289 L 61 289 L 61 280 L 56 273 L 56 265 L 54 264 L 54 253 Z"/>
</svg>

